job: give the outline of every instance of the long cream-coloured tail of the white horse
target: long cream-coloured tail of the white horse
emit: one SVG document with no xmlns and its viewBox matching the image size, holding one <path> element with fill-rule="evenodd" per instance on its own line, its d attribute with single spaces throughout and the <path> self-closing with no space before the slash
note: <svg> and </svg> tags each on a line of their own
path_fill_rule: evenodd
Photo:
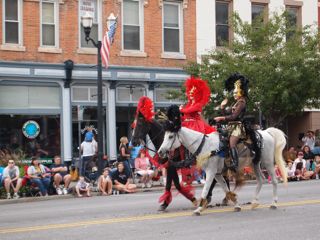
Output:
<svg viewBox="0 0 320 240">
<path fill-rule="evenodd" d="M 287 175 L 287 169 L 285 167 L 284 159 L 282 156 L 282 151 L 287 144 L 286 135 L 280 129 L 274 128 L 274 127 L 268 128 L 266 129 L 266 131 L 273 137 L 275 141 L 275 153 L 274 153 L 275 161 L 280 169 L 283 183 L 286 184 L 288 182 L 288 175 Z"/>
</svg>

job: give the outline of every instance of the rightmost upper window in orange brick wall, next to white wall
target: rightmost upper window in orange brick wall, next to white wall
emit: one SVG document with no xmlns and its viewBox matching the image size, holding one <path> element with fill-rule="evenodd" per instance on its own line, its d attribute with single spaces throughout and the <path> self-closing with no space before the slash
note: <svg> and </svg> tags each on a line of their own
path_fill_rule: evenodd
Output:
<svg viewBox="0 0 320 240">
<path fill-rule="evenodd" d="M 181 2 L 163 3 L 163 52 L 183 53 Z"/>
</svg>

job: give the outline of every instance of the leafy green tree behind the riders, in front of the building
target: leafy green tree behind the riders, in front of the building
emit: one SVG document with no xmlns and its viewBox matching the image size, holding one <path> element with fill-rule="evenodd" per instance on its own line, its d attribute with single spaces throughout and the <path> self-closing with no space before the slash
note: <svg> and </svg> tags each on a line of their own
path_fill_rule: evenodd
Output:
<svg viewBox="0 0 320 240">
<path fill-rule="evenodd" d="M 320 107 L 319 33 L 312 26 L 293 29 L 288 23 L 286 13 L 252 24 L 235 14 L 231 44 L 213 50 L 201 64 L 185 68 L 208 80 L 214 93 L 206 117 L 218 114 L 216 107 L 225 98 L 224 81 L 234 72 L 249 79 L 249 111 L 256 111 L 259 103 L 268 125 L 277 126 L 305 107 Z"/>
</svg>

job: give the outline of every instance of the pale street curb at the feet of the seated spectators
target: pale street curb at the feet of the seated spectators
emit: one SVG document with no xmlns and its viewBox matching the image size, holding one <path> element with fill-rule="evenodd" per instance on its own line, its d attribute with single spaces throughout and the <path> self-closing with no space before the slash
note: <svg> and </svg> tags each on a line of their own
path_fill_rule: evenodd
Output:
<svg viewBox="0 0 320 240">
<path fill-rule="evenodd" d="M 246 181 L 246 185 L 251 185 L 256 183 L 255 180 L 248 180 Z M 231 183 L 232 184 L 232 183 Z M 233 184 L 232 184 L 233 185 Z M 192 186 L 196 189 L 202 188 L 203 184 L 192 184 Z M 175 189 L 175 188 L 173 188 Z M 136 193 L 144 193 L 144 192 L 161 192 L 164 190 L 164 186 L 155 186 L 152 188 L 137 188 Z M 93 197 L 101 196 L 99 192 L 91 192 Z M 68 195 L 51 195 L 47 197 L 23 197 L 19 199 L 0 199 L 0 204 L 16 204 L 16 203 L 28 203 L 28 202 L 41 202 L 41 201 L 50 201 L 50 200 L 57 200 L 57 199 L 69 199 L 69 198 L 77 198 L 74 194 L 70 193 Z"/>
</svg>

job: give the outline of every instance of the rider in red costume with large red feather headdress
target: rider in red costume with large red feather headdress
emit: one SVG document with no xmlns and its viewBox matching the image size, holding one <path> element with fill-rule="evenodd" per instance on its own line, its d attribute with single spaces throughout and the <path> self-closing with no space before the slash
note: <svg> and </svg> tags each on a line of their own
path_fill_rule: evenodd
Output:
<svg viewBox="0 0 320 240">
<path fill-rule="evenodd" d="M 210 88 L 206 81 L 200 78 L 191 77 L 185 82 L 188 103 L 180 107 L 182 126 L 192 130 L 209 134 L 216 129 L 206 123 L 202 117 L 202 108 L 208 103 Z"/>
</svg>

